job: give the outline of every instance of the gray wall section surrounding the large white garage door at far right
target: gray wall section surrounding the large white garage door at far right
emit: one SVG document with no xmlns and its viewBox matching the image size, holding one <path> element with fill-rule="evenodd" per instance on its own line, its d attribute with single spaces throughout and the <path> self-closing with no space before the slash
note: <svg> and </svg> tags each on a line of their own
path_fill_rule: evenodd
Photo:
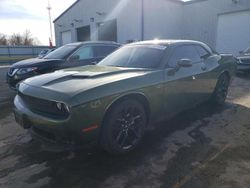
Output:
<svg viewBox="0 0 250 188">
<path fill-rule="evenodd" d="M 200 40 L 216 48 L 218 16 L 249 9 L 249 0 L 239 0 L 237 4 L 232 0 L 207 0 L 186 4 L 183 8 L 182 38 Z"/>
</svg>

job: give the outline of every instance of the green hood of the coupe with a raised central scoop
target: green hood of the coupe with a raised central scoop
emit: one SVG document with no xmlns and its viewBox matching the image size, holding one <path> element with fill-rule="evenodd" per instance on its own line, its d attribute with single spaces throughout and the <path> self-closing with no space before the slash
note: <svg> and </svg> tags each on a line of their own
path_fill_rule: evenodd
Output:
<svg viewBox="0 0 250 188">
<path fill-rule="evenodd" d="M 82 95 L 85 95 L 84 101 L 88 101 L 112 94 L 114 88 L 119 87 L 120 81 L 138 77 L 143 81 L 142 76 L 148 72 L 152 70 L 89 65 L 29 78 L 20 84 L 19 90 L 40 98 L 46 97 L 46 99 L 68 103 L 71 103 L 70 100 L 74 98 L 82 103 Z M 133 85 L 132 82 L 130 81 L 130 85 Z M 71 105 L 77 105 L 76 103 Z"/>
</svg>

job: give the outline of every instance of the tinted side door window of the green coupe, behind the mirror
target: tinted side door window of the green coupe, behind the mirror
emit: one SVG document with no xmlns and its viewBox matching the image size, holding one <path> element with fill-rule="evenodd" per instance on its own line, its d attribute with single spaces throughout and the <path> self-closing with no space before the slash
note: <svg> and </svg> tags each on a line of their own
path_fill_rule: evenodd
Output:
<svg viewBox="0 0 250 188">
<path fill-rule="evenodd" d="M 198 63 L 201 61 L 197 50 L 192 45 L 176 47 L 170 57 L 168 65 L 170 67 L 176 67 L 177 62 L 181 59 L 190 59 L 193 63 Z"/>
</svg>

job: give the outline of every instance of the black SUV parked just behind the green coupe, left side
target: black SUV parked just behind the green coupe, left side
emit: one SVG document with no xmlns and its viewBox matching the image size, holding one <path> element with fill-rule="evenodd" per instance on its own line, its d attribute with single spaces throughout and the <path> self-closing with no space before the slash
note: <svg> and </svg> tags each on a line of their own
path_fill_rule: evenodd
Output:
<svg viewBox="0 0 250 188">
<path fill-rule="evenodd" d="M 32 76 L 97 63 L 120 46 L 115 42 L 67 44 L 43 58 L 27 59 L 13 64 L 6 75 L 6 80 L 9 86 L 15 89 L 17 83 Z"/>
</svg>

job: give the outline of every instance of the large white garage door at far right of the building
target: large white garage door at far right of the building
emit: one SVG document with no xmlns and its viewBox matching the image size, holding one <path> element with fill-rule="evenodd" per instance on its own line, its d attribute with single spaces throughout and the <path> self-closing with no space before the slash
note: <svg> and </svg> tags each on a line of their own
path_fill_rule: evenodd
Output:
<svg viewBox="0 0 250 188">
<path fill-rule="evenodd" d="M 220 15 L 217 28 L 217 51 L 238 55 L 239 51 L 247 46 L 250 46 L 250 11 Z"/>
</svg>

